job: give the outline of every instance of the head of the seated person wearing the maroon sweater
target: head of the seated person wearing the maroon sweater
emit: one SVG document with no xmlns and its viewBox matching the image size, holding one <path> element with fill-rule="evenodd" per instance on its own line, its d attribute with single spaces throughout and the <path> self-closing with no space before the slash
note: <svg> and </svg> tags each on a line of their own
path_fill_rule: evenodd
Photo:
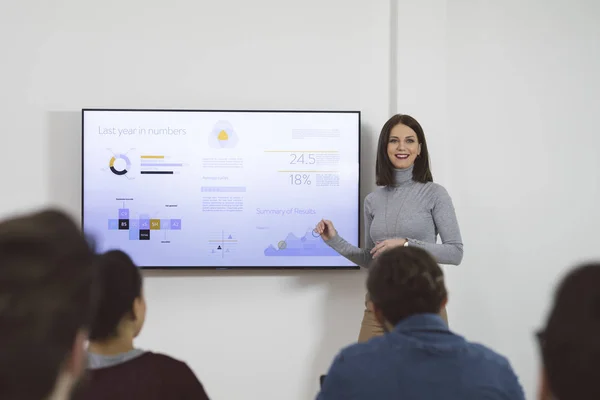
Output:
<svg viewBox="0 0 600 400">
<path fill-rule="evenodd" d="M 99 301 L 90 330 L 90 341 L 133 341 L 146 317 L 142 275 L 131 258 L 120 250 L 98 257 Z"/>
</svg>

